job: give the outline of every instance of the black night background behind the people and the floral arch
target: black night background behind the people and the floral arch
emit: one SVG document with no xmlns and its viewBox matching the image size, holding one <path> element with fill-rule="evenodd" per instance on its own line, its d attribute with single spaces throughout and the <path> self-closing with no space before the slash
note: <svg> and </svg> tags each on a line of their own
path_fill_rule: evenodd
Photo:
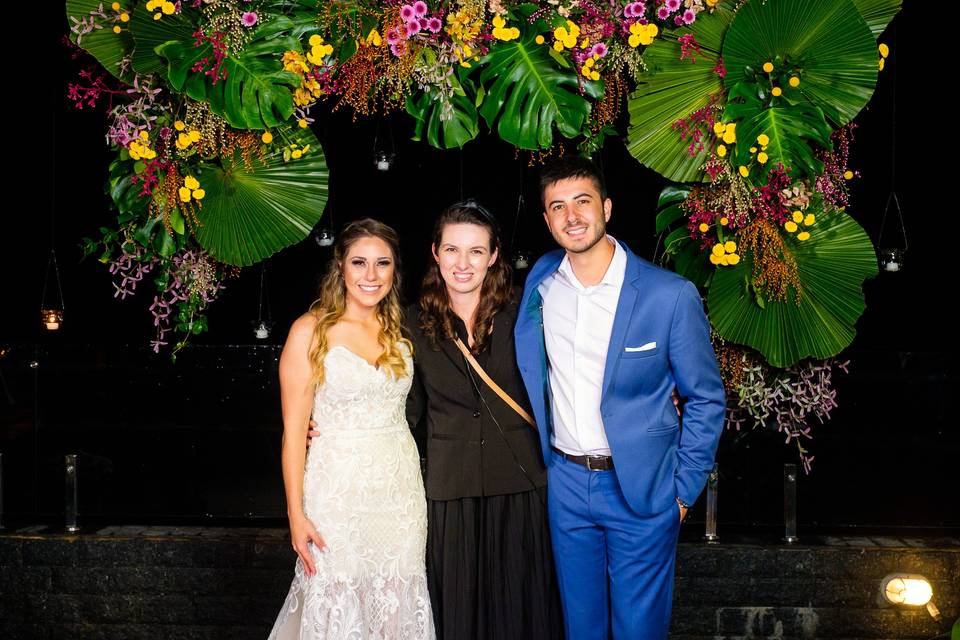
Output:
<svg viewBox="0 0 960 640">
<path fill-rule="evenodd" d="M 77 111 L 66 100 L 67 83 L 89 59 L 82 65 L 70 59 L 60 44 L 67 30 L 62 5 L 43 4 L 49 6 L 31 9 L 23 21 L 44 30 L 52 63 L 21 61 L 8 69 L 8 102 L 21 115 L 7 121 L 8 153 L 17 168 L 6 181 L 0 258 L 7 518 L 56 521 L 62 456 L 80 453 L 81 515 L 88 519 L 280 522 L 276 358 L 286 328 L 313 300 L 329 250 L 310 238 L 269 259 L 276 321 L 269 340 L 256 341 L 251 330 L 261 273 L 253 267 L 228 283 L 210 309 L 211 332 L 193 339 L 176 365 L 165 353 L 153 355 L 147 348 L 152 284 L 133 299 L 114 299 L 104 266 L 80 259 L 81 238 L 96 237 L 98 227 L 115 220 L 103 193 L 111 157 L 106 118 L 102 110 Z M 953 252 L 944 203 L 920 173 L 935 153 L 921 135 L 930 124 L 929 106 L 918 99 L 928 86 L 919 77 L 929 55 L 921 46 L 921 18 L 916 3 L 907 6 L 882 38 L 891 58 L 857 119 L 851 165 L 863 177 L 853 183 L 850 212 L 876 242 L 895 188 L 910 244 L 904 271 L 866 283 L 867 311 L 844 354 L 850 374 L 835 378 L 840 407 L 826 425 L 814 427 L 808 444 L 816 460 L 812 474 L 800 479 L 799 517 L 811 529 L 960 527 L 960 437 L 948 417 L 957 381 L 948 303 L 955 285 L 946 277 Z M 330 167 L 330 201 L 320 225 L 332 217 L 339 228 L 368 215 L 393 225 L 401 234 L 408 297 L 428 258 L 434 216 L 461 196 L 475 196 L 496 212 L 507 242 L 515 235 L 515 245 L 534 256 L 550 248 L 537 204 L 537 168 L 527 166 L 527 154 L 484 134 L 462 152 L 414 143 L 404 113 L 357 122 L 347 111 L 318 108 L 314 115 Z M 395 146 L 390 172 L 374 168 L 375 136 L 379 146 Z M 608 141 L 601 165 L 614 202 L 610 232 L 650 258 L 663 179 L 616 139 Z M 521 193 L 527 206 L 517 216 Z M 39 322 L 51 209 L 66 303 L 56 334 L 43 333 Z M 903 242 L 892 214 L 884 246 Z M 780 434 L 726 433 L 719 454 L 721 526 L 782 523 L 782 464 L 795 458 Z"/>
</svg>

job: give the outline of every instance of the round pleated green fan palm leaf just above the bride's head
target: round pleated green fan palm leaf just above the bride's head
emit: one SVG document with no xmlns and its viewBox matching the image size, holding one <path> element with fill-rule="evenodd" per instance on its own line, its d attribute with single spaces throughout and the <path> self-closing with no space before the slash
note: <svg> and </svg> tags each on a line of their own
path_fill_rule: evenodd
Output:
<svg viewBox="0 0 960 640">
<path fill-rule="evenodd" d="M 320 143 L 309 129 L 283 127 L 284 140 L 267 156 L 266 166 L 254 159 L 253 169 L 236 157 L 223 166 L 203 166 L 197 179 L 206 191 L 197 210 L 197 241 L 221 262 L 245 267 L 300 242 L 320 220 L 327 202 L 327 164 Z M 284 161 L 290 144 L 309 151 Z"/>
</svg>

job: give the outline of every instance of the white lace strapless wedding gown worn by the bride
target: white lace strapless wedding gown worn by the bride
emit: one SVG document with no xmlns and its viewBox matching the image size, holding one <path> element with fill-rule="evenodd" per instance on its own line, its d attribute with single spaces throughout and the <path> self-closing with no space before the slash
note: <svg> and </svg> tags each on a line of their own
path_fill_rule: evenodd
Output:
<svg viewBox="0 0 960 640">
<path fill-rule="evenodd" d="M 394 379 L 345 347 L 326 355 L 313 402 L 321 435 L 307 452 L 303 502 L 329 552 L 311 545 L 313 577 L 297 560 L 270 640 L 434 638 L 406 360 L 408 375 Z"/>
</svg>

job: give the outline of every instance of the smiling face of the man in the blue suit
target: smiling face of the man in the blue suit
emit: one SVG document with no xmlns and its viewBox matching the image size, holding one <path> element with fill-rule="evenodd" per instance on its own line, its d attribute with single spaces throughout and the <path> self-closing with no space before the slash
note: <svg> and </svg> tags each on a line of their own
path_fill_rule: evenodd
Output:
<svg viewBox="0 0 960 640">
<path fill-rule="evenodd" d="M 568 253 L 586 253 L 603 239 L 613 203 L 601 198 L 590 178 L 567 178 L 543 192 L 543 219 L 553 239 Z"/>
</svg>

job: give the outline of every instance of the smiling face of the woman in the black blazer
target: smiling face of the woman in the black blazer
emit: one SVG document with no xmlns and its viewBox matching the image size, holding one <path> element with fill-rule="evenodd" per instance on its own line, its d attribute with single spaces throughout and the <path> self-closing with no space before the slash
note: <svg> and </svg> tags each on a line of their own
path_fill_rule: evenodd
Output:
<svg viewBox="0 0 960 640">
<path fill-rule="evenodd" d="M 490 240 L 489 229 L 478 224 L 444 225 L 439 246 L 431 250 L 448 293 L 479 293 L 487 270 L 497 261 L 498 252 L 491 249 Z"/>
</svg>

